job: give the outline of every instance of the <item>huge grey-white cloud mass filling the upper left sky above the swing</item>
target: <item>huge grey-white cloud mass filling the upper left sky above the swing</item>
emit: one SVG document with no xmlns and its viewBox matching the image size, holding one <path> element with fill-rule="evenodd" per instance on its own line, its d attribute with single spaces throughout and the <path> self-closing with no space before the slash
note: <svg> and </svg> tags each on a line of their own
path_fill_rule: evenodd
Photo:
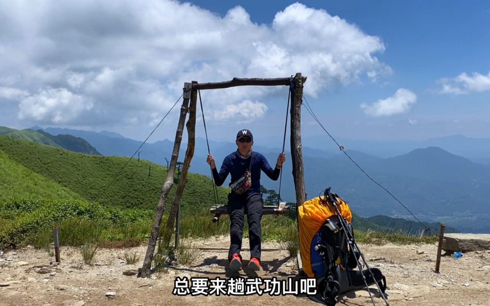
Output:
<svg viewBox="0 0 490 306">
<path fill-rule="evenodd" d="M 7 1 L 0 15 L 0 85 L 31 93 L 15 96 L 20 118 L 47 124 L 153 122 L 192 80 L 302 72 L 304 93 L 316 96 L 333 82 L 392 73 L 373 55 L 385 50 L 379 37 L 300 3 L 277 12 L 270 25 L 252 23 L 240 6 L 220 17 L 173 0 Z M 237 87 L 201 94 L 215 119 L 234 120 L 223 117 L 228 112 L 252 120 L 266 114 L 262 102 L 252 103 L 253 115 L 233 110 L 284 91 Z M 43 99 L 51 95 L 62 95 L 50 99 L 63 106 L 49 107 Z M 67 100 L 76 102 L 61 102 Z"/>
</svg>

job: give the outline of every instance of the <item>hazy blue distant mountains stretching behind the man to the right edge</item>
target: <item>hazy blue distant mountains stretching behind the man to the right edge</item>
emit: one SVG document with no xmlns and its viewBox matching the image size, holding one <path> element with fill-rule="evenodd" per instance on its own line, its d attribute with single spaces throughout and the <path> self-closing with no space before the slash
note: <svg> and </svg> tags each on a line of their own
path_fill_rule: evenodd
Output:
<svg viewBox="0 0 490 306">
<path fill-rule="evenodd" d="M 34 127 L 38 129 L 39 127 Z M 112 132 L 93 132 L 69 130 L 60 128 L 46 128 L 45 132 L 51 135 L 69 134 L 81 137 L 97 148 L 102 155 L 132 156 L 142 141 L 124 138 L 122 135 Z M 449 146 L 450 139 L 459 139 L 457 143 L 473 146 L 475 152 L 480 152 L 480 159 L 484 159 L 485 143 L 490 140 L 466 139 L 460 136 L 454 138 L 434 139 L 425 142 L 431 144 L 423 148 L 414 148 L 403 154 L 386 158 L 387 152 L 395 152 L 393 143 L 402 142 L 369 142 L 369 141 L 339 141 L 346 146 L 345 152 L 359 165 L 373 180 L 389 190 L 412 213 L 425 216 L 441 215 L 471 215 L 474 213 L 490 213 L 489 198 L 490 166 L 472 162 L 458 156 L 454 152 L 435 144 L 440 143 Z M 183 161 L 187 143 L 183 139 L 181 144 L 179 161 Z M 353 211 L 362 216 L 382 215 L 407 215 L 409 212 L 396 201 L 386 190 L 376 185 L 343 152 L 334 153 L 322 150 L 320 146 L 309 147 L 315 143 L 321 143 L 316 139 L 314 143 L 303 138 L 303 158 L 305 169 L 305 187 L 308 197 L 318 196 L 326 187 L 332 187 L 345 201 L 349 202 Z M 478 142 L 475 144 L 473 142 Z M 282 143 L 273 141 L 256 140 L 254 150 L 263 153 L 273 166 L 281 151 Z M 267 143 L 267 146 L 262 145 Z M 385 156 L 373 154 L 377 152 L 376 146 L 371 150 L 360 151 L 357 148 L 366 148 L 372 143 L 391 145 L 391 151 L 385 152 Z M 401 145 L 407 147 L 409 142 Z M 417 142 L 412 142 L 415 145 Z M 473 143 L 473 144 L 470 144 Z M 489 142 L 490 143 L 490 142 Z M 354 145 L 356 144 L 356 145 Z M 434 144 L 434 145 L 433 145 Z M 212 154 L 218 161 L 218 167 L 222 159 L 236 150 L 234 142 L 210 141 Z M 286 145 L 286 148 L 289 144 Z M 458 149 L 458 145 L 453 145 Z M 490 147 L 490 144 L 489 144 Z M 164 140 L 154 143 L 146 143 L 141 148 L 141 158 L 160 165 L 167 165 L 172 156 L 173 141 Z M 354 149 L 356 148 L 356 149 Z M 397 149 L 398 151 L 401 150 Z M 465 151 L 459 148 L 459 151 Z M 469 150 L 469 148 L 468 148 Z M 454 150 L 453 150 L 454 151 Z M 457 151 L 457 150 L 456 150 Z M 471 150 L 469 150 L 471 151 Z M 195 155 L 191 163 L 190 171 L 210 176 L 209 165 L 205 163 L 207 145 L 205 139 L 196 138 Z M 475 156 L 478 156 L 475 154 Z M 490 156 L 490 155 L 488 155 Z M 295 201 L 294 183 L 292 177 L 291 154 L 286 150 L 287 163 L 283 168 L 281 197 L 288 202 Z M 167 159 L 167 160 L 166 160 Z M 270 181 L 262 175 L 262 185 L 268 189 L 278 191 L 279 182 Z M 229 177 L 226 184 L 229 183 Z"/>
</svg>

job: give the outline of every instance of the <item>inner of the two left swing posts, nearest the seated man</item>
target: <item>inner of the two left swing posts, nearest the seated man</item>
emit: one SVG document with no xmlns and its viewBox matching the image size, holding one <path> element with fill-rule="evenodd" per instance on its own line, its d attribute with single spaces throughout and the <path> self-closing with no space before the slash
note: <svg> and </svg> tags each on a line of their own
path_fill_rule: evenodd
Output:
<svg viewBox="0 0 490 306">
<path fill-rule="evenodd" d="M 196 84 L 196 81 L 192 81 L 192 84 Z M 175 216 L 177 215 L 177 211 L 180 213 L 180 198 L 182 197 L 182 193 L 184 192 L 185 184 L 187 182 L 187 173 L 189 167 L 191 166 L 191 160 L 194 156 L 194 147 L 196 144 L 196 108 L 197 108 L 197 90 L 192 90 L 191 92 L 191 103 L 189 104 L 189 119 L 187 120 L 187 150 L 185 152 L 184 163 L 182 165 L 182 172 L 180 174 L 179 184 L 177 185 L 177 190 L 175 191 L 175 196 L 173 197 L 172 206 L 170 207 L 169 218 L 167 220 L 167 230 L 169 233 L 172 232 L 173 225 L 175 223 Z M 180 220 L 177 218 L 177 223 L 175 225 L 175 243 L 178 242 L 178 231 L 180 229 Z M 167 235 L 165 241 L 165 245 L 170 244 L 170 235 Z M 177 245 L 175 245 L 176 247 Z"/>
</svg>

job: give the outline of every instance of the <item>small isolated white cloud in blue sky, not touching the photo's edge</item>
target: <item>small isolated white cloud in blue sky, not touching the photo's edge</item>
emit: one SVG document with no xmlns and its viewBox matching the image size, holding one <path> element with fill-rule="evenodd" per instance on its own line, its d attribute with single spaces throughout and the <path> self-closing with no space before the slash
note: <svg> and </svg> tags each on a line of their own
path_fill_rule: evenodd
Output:
<svg viewBox="0 0 490 306">
<path fill-rule="evenodd" d="M 392 116 L 405 113 L 416 101 L 416 94 L 408 89 L 400 88 L 391 97 L 379 99 L 371 105 L 362 103 L 361 108 L 372 117 Z"/>
</svg>

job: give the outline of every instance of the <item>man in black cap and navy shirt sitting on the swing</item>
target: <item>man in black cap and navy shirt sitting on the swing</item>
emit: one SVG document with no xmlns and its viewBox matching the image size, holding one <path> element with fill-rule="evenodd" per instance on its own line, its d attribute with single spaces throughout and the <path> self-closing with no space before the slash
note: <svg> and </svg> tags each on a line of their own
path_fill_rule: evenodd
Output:
<svg viewBox="0 0 490 306">
<path fill-rule="evenodd" d="M 264 171 L 271 180 L 277 181 L 286 157 L 284 153 L 280 153 L 275 168 L 272 169 L 264 155 L 252 151 L 253 136 L 249 130 L 238 132 L 236 144 L 238 149 L 224 158 L 219 173 L 211 154 L 208 155 L 207 163 L 211 165 L 217 186 L 224 183 L 228 173 L 231 174 L 232 191 L 228 194 L 228 215 L 231 221 L 230 250 L 228 252 L 230 269 L 242 269 L 240 250 L 242 249 L 246 212 L 250 239 L 248 267 L 252 270 L 259 270 L 262 239 L 260 221 L 264 212 L 264 200 L 260 191 L 260 171 Z"/>
</svg>

